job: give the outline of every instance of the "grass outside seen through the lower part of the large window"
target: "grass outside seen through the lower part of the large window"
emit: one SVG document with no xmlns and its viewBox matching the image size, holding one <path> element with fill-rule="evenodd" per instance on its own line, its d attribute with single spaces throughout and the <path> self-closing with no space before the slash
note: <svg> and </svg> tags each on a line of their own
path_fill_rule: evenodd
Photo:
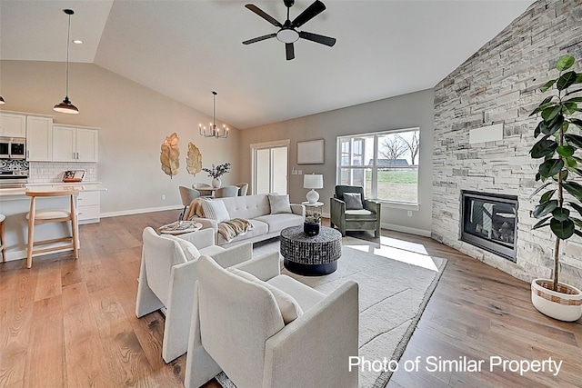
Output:
<svg viewBox="0 0 582 388">
<path fill-rule="evenodd" d="M 378 170 L 377 199 L 385 201 L 418 202 L 418 169 Z M 366 196 L 371 196 L 372 172 L 366 172 Z"/>
</svg>

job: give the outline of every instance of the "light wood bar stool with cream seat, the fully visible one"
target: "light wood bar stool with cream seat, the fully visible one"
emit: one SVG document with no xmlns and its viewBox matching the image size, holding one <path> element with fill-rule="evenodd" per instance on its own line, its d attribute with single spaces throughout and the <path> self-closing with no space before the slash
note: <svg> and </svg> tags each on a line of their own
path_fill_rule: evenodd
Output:
<svg viewBox="0 0 582 388">
<path fill-rule="evenodd" d="M 30 212 L 26 214 L 26 219 L 28 220 L 28 249 L 26 255 L 26 266 L 28 268 L 32 267 L 33 265 L 33 254 L 42 254 L 45 252 L 73 248 L 73 254 L 75 255 L 75 259 L 79 257 L 79 247 L 77 243 L 78 224 L 76 220 L 76 209 L 75 209 L 76 194 L 79 194 L 78 190 L 26 191 L 26 195 L 31 197 Z M 70 197 L 69 209 L 36 210 L 37 197 L 54 198 L 58 196 Z M 67 221 L 71 222 L 72 235 L 35 242 L 35 224 L 65 223 Z M 69 244 L 59 244 L 58 246 L 52 246 L 49 248 L 42 248 L 37 250 L 34 249 L 35 245 L 53 244 L 68 241 L 70 241 Z"/>
</svg>

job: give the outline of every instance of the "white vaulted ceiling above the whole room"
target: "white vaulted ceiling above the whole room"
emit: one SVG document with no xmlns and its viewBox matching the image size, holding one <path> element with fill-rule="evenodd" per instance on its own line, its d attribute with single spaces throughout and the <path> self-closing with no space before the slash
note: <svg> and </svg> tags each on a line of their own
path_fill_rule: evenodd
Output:
<svg viewBox="0 0 582 388">
<path fill-rule="evenodd" d="M 300 39 L 286 61 L 276 38 L 242 41 L 283 23 L 282 0 L 1 0 L 0 58 L 95 63 L 212 114 L 239 129 L 431 88 L 521 15 L 533 0 L 323 0 L 300 30 L 336 37 L 334 47 Z M 291 20 L 313 0 L 296 0 Z M 71 78 L 71 83 L 75 82 Z"/>
</svg>

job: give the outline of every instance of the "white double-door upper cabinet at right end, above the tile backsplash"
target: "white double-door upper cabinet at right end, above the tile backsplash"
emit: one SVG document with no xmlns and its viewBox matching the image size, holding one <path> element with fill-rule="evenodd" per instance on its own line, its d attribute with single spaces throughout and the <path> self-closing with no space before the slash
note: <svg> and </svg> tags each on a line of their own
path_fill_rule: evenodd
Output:
<svg viewBox="0 0 582 388">
<path fill-rule="evenodd" d="M 96 128 L 53 125 L 53 162 L 97 162 L 98 143 Z"/>
</svg>

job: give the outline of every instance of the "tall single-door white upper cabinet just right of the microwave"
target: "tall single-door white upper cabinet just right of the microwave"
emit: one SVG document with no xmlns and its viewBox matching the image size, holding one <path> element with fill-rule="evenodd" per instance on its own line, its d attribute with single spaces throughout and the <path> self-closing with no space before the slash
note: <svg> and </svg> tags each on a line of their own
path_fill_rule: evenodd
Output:
<svg viewBox="0 0 582 388">
<path fill-rule="evenodd" d="M 26 160 L 29 162 L 53 160 L 52 117 L 26 117 Z"/>
</svg>

